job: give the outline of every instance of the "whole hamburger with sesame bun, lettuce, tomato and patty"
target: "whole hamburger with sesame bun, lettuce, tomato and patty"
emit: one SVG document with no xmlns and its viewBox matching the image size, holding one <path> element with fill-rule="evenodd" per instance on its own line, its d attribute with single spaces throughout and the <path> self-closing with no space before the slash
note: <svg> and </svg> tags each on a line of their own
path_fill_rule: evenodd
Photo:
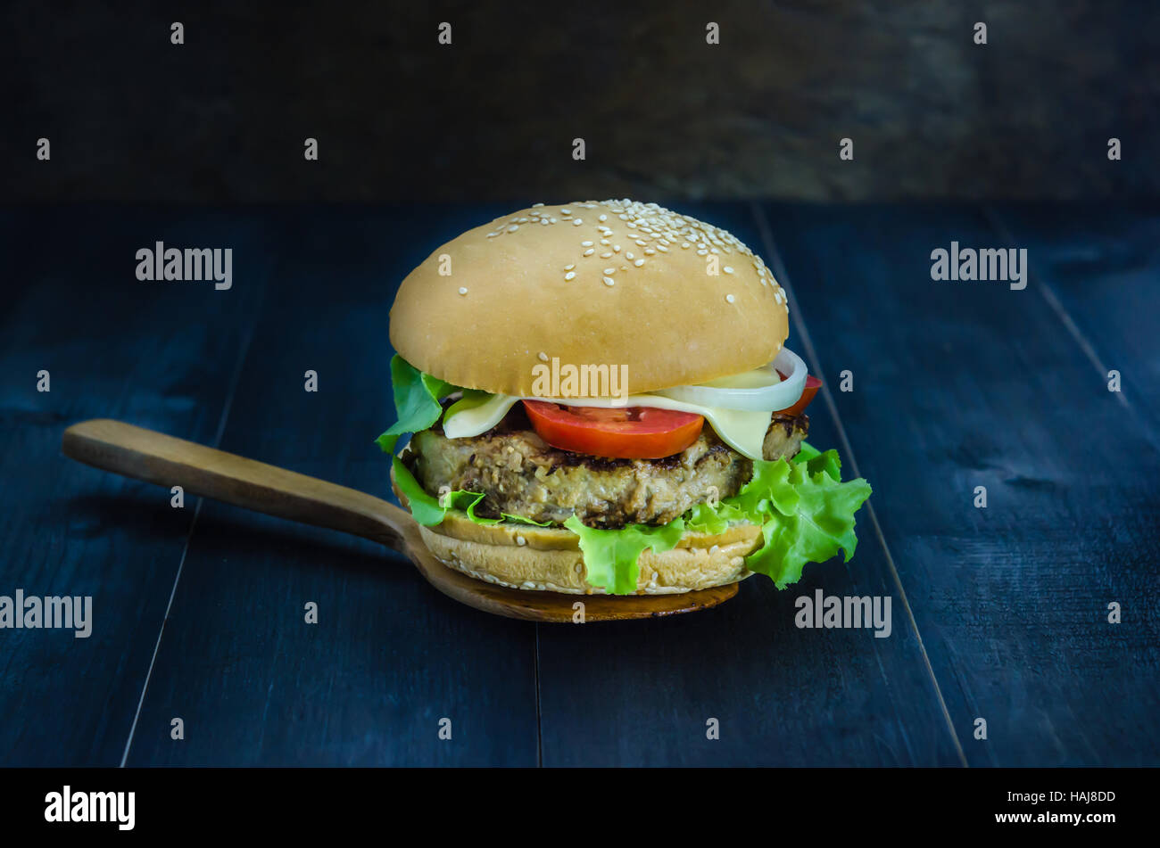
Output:
<svg viewBox="0 0 1160 848">
<path fill-rule="evenodd" d="M 653 203 L 537 204 L 403 280 L 377 443 L 433 555 L 477 579 L 781 589 L 850 560 L 870 496 L 805 440 L 821 383 L 788 335 L 784 290 L 726 231 Z"/>
</svg>

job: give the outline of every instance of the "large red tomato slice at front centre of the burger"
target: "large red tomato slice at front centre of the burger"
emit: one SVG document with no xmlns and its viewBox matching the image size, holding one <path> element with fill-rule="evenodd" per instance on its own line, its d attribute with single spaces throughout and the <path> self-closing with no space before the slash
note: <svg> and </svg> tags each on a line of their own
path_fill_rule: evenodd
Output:
<svg viewBox="0 0 1160 848">
<path fill-rule="evenodd" d="M 652 407 L 566 407 L 524 401 L 536 433 L 552 447 L 615 459 L 664 459 L 697 440 L 705 419 Z"/>
</svg>

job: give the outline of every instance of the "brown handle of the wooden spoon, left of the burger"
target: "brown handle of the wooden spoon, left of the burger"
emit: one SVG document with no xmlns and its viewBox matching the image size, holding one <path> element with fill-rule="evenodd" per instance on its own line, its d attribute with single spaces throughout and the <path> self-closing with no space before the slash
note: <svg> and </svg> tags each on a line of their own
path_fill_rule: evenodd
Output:
<svg viewBox="0 0 1160 848">
<path fill-rule="evenodd" d="M 365 492 L 119 421 L 73 424 L 60 448 L 65 456 L 107 471 L 180 485 L 186 492 L 353 533 L 397 550 L 403 550 L 404 528 L 412 520 L 398 506 Z"/>
</svg>

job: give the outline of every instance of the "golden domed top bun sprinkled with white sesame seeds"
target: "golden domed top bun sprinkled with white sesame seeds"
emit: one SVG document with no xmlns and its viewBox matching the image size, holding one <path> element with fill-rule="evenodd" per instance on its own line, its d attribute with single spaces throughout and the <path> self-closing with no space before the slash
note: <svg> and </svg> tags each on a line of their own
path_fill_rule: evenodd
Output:
<svg viewBox="0 0 1160 848">
<path fill-rule="evenodd" d="M 726 231 L 602 200 L 537 204 L 443 244 L 403 280 L 390 335 L 457 386 L 532 395 L 536 366 L 558 358 L 628 366 L 639 394 L 764 365 L 788 314 L 764 262 Z"/>
</svg>

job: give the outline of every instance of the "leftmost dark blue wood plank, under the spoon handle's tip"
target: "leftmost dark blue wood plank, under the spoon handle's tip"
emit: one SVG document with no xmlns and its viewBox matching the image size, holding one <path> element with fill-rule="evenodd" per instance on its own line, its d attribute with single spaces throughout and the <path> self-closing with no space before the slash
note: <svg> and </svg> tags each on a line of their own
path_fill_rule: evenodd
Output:
<svg viewBox="0 0 1160 848">
<path fill-rule="evenodd" d="M 116 766 L 193 517 L 60 455 L 116 416 L 212 441 L 269 271 L 246 215 L 74 207 L 0 215 L 0 594 L 92 595 L 93 630 L 0 631 L 0 763 Z M 232 247 L 234 285 L 139 283 L 136 250 Z M 46 370 L 51 392 L 36 390 Z"/>
</svg>

